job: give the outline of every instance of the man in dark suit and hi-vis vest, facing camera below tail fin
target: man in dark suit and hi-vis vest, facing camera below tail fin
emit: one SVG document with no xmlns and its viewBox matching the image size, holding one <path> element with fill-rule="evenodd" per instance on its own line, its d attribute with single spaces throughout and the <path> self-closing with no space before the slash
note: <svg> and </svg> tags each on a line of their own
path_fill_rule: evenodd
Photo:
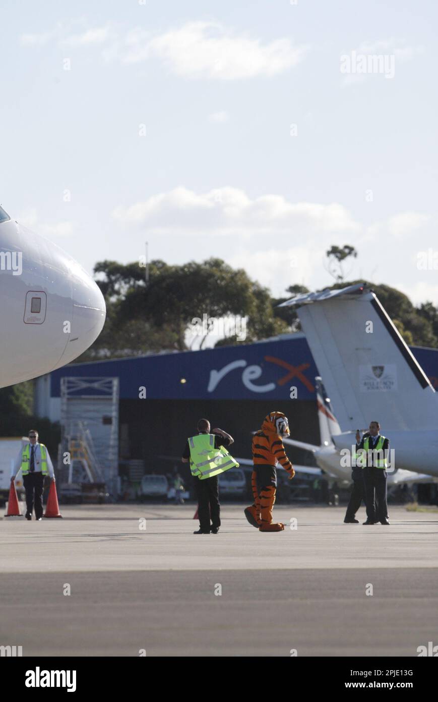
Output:
<svg viewBox="0 0 438 702">
<path fill-rule="evenodd" d="M 367 525 L 390 523 L 386 503 L 386 468 L 390 440 L 381 435 L 380 429 L 381 425 L 374 421 L 369 423 L 369 432 L 365 433 L 362 439 L 359 430 L 356 432 L 356 465 L 360 465 L 364 477 L 367 521 L 363 523 Z"/>
</svg>

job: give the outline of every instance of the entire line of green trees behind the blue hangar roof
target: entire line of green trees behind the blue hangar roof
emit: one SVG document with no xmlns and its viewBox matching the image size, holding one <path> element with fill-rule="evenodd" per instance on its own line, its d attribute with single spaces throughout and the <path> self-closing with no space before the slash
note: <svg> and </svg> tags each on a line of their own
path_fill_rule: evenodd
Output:
<svg viewBox="0 0 438 702">
<path fill-rule="evenodd" d="M 353 246 L 331 246 L 327 254 L 339 264 L 356 256 Z M 271 298 L 268 289 L 251 280 L 245 270 L 233 270 L 219 258 L 203 263 L 167 265 L 153 260 L 146 286 L 144 267 L 102 261 L 95 266 L 98 284 L 107 301 L 107 323 L 93 347 L 78 361 L 129 357 L 161 350 L 186 350 L 187 330 L 194 318 L 247 318 L 245 342 L 235 336 L 221 339 L 217 346 L 251 343 L 287 331 L 300 329 L 293 307 L 278 307 L 299 293 L 302 285 L 291 285 L 287 296 Z M 339 279 L 331 289 L 363 281 Z M 409 298 L 387 285 L 373 285 L 381 303 L 409 345 L 438 347 L 438 312 L 432 303 L 416 308 Z M 200 346 L 205 344 L 205 338 Z M 199 344 L 196 345 L 197 347 Z"/>
</svg>

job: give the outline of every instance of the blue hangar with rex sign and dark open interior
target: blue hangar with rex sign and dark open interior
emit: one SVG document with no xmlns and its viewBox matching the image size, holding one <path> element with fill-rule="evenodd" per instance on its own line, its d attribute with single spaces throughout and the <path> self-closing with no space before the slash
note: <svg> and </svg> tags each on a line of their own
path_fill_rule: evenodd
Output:
<svg viewBox="0 0 438 702">
<path fill-rule="evenodd" d="M 438 388 L 438 351 L 413 347 Z M 177 463 L 198 418 L 207 417 L 235 438 L 236 456 L 250 458 L 251 432 L 273 409 L 289 417 L 291 435 L 319 443 L 315 407 L 317 367 L 303 334 L 193 352 L 71 364 L 50 373 L 50 397 L 64 376 L 118 377 L 121 459 L 143 458 L 147 470 Z M 146 399 L 139 399 L 140 388 Z M 290 399 L 295 387 L 297 399 Z M 306 462 L 302 452 L 292 460 Z"/>
</svg>

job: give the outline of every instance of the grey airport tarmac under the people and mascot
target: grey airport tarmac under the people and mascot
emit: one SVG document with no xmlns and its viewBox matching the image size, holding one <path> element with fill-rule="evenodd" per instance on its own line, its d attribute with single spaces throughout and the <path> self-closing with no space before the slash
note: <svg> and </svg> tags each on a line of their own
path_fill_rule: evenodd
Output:
<svg viewBox="0 0 438 702">
<path fill-rule="evenodd" d="M 63 519 L 3 519 L 0 645 L 24 656 L 416 656 L 438 643 L 438 513 L 390 507 L 390 527 L 364 527 L 343 524 L 345 508 L 278 505 L 285 531 L 261 534 L 226 504 L 219 534 L 194 536 L 194 509 L 62 505 Z"/>
</svg>

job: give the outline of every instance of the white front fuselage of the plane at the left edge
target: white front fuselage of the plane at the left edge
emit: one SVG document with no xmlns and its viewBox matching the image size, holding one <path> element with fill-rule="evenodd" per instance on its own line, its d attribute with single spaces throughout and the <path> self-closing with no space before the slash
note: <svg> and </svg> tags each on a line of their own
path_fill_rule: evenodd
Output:
<svg viewBox="0 0 438 702">
<path fill-rule="evenodd" d="M 14 220 L 0 223 L 0 387 L 49 373 L 99 336 L 99 287 L 67 253 Z M 12 258 L 11 258 L 12 257 Z M 11 270 L 11 260 L 20 267 Z"/>
</svg>

